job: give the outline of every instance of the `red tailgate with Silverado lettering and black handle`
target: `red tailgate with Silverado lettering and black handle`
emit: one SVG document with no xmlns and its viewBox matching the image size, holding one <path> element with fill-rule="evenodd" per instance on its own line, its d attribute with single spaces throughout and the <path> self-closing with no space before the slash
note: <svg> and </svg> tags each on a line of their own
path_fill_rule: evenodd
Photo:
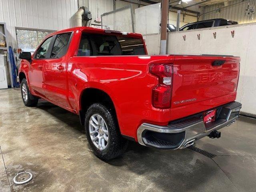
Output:
<svg viewBox="0 0 256 192">
<path fill-rule="evenodd" d="M 234 101 L 239 62 L 231 56 L 175 56 L 171 119 Z"/>
</svg>

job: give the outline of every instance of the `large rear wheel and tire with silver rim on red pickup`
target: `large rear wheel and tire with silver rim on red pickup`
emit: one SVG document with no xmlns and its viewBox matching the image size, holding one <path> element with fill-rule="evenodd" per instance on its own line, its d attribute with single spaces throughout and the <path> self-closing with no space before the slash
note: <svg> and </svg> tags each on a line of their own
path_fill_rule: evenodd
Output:
<svg viewBox="0 0 256 192">
<path fill-rule="evenodd" d="M 98 131 L 96 131 L 97 128 L 94 127 L 96 126 L 96 123 L 92 117 L 100 122 Z M 101 119 L 103 119 L 103 121 Z M 128 146 L 128 140 L 121 136 L 116 117 L 108 108 L 106 108 L 106 106 L 100 103 L 92 104 L 86 112 L 84 126 L 87 140 L 94 154 L 98 156 L 98 158 L 102 160 L 111 160 L 125 152 Z M 93 130 L 96 131 L 95 134 L 92 134 Z M 108 132 L 108 134 L 106 134 L 106 132 Z M 92 140 L 92 138 L 96 137 L 101 138 L 101 141 L 103 140 L 103 142 L 101 142 L 102 144 L 99 145 L 100 139 L 98 139 L 97 146 L 97 139 L 95 142 Z M 108 140 L 105 139 L 106 137 Z"/>
</svg>

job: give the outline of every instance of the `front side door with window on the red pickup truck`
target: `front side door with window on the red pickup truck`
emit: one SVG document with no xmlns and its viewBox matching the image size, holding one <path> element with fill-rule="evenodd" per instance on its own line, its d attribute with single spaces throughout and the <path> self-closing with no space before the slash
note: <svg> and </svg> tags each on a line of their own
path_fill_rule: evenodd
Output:
<svg viewBox="0 0 256 192">
<path fill-rule="evenodd" d="M 28 80 L 30 81 L 30 88 L 38 95 L 44 97 L 43 83 L 43 68 L 46 65 L 47 58 L 49 57 L 49 48 L 52 37 L 47 38 L 40 47 L 36 50 L 32 61 L 29 65 Z"/>
</svg>

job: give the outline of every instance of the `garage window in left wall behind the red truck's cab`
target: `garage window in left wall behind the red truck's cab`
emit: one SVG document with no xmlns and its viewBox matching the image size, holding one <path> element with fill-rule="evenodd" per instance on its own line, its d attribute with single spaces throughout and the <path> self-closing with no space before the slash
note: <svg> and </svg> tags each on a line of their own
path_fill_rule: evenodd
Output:
<svg viewBox="0 0 256 192">
<path fill-rule="evenodd" d="M 34 52 L 46 36 L 54 31 L 16 28 L 18 48 L 22 51 Z"/>
</svg>

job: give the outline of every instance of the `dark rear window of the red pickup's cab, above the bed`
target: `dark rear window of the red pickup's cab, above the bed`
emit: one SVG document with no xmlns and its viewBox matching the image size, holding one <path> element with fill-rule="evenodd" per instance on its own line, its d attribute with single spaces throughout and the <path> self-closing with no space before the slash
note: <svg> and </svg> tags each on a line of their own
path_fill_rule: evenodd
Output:
<svg viewBox="0 0 256 192">
<path fill-rule="evenodd" d="M 81 36 L 77 56 L 145 55 L 141 38 L 88 34 Z"/>
</svg>

